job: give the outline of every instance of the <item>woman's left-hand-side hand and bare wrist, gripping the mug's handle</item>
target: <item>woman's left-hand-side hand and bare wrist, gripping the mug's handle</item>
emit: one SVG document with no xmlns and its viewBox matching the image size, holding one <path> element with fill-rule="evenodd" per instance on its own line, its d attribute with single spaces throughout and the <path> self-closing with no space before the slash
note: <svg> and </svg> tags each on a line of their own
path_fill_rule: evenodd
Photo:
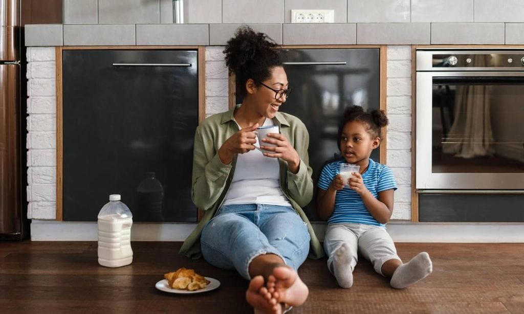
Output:
<svg viewBox="0 0 524 314">
<path fill-rule="evenodd" d="M 255 149 L 257 134 L 255 130 L 258 123 L 247 128 L 243 128 L 228 138 L 219 149 L 220 161 L 227 165 L 233 161 L 236 154 L 247 153 Z"/>
</svg>

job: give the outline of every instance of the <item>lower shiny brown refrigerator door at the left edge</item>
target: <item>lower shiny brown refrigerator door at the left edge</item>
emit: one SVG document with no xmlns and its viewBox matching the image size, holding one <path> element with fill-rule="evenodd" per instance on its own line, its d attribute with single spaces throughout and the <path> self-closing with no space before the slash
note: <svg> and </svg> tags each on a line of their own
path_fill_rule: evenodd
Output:
<svg viewBox="0 0 524 314">
<path fill-rule="evenodd" d="M 0 64 L 0 234 L 20 233 L 19 65 Z"/>
</svg>

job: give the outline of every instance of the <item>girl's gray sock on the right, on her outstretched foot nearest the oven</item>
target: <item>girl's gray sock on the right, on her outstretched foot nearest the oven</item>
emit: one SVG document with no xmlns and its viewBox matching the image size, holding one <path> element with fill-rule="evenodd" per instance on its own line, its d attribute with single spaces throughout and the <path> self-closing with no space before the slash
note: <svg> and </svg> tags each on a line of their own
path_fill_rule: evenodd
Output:
<svg viewBox="0 0 524 314">
<path fill-rule="evenodd" d="M 425 278 L 433 271 L 433 264 L 429 254 L 421 252 L 406 264 L 398 266 L 389 284 L 391 287 L 402 289 Z"/>
</svg>

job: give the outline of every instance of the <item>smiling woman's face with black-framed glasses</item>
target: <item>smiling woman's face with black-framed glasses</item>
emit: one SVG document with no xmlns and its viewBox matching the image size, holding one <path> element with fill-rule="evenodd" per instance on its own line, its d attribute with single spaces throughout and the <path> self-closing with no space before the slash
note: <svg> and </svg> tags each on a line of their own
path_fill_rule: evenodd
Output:
<svg viewBox="0 0 524 314">
<path fill-rule="evenodd" d="M 273 118 L 277 114 L 280 106 L 286 102 L 286 96 L 282 95 L 275 99 L 275 91 L 288 89 L 288 76 L 281 66 L 275 66 L 271 69 L 271 77 L 261 82 L 269 87 L 260 85 L 253 94 L 255 100 L 255 110 L 261 116 Z"/>
</svg>

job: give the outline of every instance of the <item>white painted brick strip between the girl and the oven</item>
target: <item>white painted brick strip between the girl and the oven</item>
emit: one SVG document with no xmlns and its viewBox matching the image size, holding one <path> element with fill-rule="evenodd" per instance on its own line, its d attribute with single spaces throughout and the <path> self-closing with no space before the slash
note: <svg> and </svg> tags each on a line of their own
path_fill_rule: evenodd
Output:
<svg viewBox="0 0 524 314">
<path fill-rule="evenodd" d="M 411 47 L 387 47 L 387 164 L 398 189 L 392 219 L 411 219 Z"/>
</svg>

